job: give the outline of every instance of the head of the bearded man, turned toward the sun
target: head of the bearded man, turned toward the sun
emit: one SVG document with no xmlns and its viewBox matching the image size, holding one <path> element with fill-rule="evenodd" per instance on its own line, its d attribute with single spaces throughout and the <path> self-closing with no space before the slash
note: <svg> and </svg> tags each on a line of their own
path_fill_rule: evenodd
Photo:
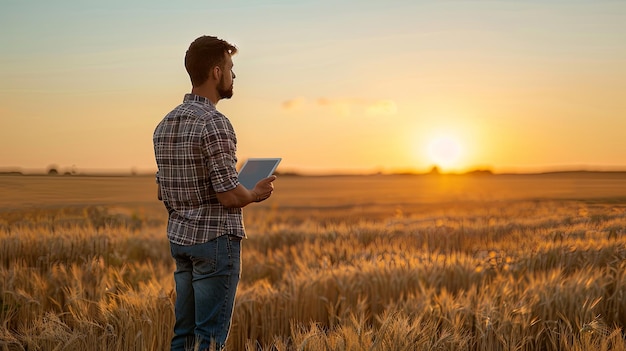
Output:
<svg viewBox="0 0 626 351">
<path fill-rule="evenodd" d="M 225 40 L 211 36 L 202 36 L 194 40 L 185 54 L 185 68 L 194 88 L 201 87 L 207 81 L 215 83 L 217 99 L 233 96 L 232 55 L 237 48 Z"/>
</svg>

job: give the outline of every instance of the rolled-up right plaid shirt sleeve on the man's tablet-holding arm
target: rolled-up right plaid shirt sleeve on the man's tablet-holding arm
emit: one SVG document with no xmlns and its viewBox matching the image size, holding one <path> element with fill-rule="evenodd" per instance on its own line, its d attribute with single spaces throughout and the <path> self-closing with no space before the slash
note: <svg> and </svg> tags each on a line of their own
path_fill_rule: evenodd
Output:
<svg viewBox="0 0 626 351">
<path fill-rule="evenodd" d="M 237 137 L 225 116 L 211 118 L 204 133 L 207 168 L 213 190 L 218 193 L 232 190 L 239 184 L 237 174 Z"/>
</svg>

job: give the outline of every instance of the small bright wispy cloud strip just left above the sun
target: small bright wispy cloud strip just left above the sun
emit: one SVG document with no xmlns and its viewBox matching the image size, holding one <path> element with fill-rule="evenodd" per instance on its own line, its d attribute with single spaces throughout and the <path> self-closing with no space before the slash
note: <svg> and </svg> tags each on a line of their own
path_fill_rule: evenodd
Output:
<svg viewBox="0 0 626 351">
<path fill-rule="evenodd" d="M 308 101 L 303 97 L 297 97 L 282 103 L 285 111 L 296 111 L 307 108 Z M 360 98 L 319 98 L 312 106 L 330 108 L 334 114 L 347 117 L 353 112 L 363 112 L 369 116 L 393 115 L 398 112 L 396 103 L 389 99 L 360 99 Z"/>
</svg>

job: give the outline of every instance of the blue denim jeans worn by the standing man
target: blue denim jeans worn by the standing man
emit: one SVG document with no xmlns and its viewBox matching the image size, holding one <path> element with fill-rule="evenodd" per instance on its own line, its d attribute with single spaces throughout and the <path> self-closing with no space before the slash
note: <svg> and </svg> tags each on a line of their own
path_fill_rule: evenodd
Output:
<svg viewBox="0 0 626 351">
<path fill-rule="evenodd" d="M 170 243 L 176 261 L 176 324 L 172 351 L 226 344 L 241 275 L 241 238 L 223 235 L 203 244 Z"/>
</svg>

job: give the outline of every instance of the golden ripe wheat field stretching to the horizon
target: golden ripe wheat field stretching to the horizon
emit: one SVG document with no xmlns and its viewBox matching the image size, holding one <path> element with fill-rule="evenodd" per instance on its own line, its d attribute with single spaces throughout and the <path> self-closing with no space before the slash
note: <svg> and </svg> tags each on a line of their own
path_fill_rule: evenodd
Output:
<svg viewBox="0 0 626 351">
<path fill-rule="evenodd" d="M 626 350 L 626 174 L 282 176 L 229 350 Z M 0 176 L 0 350 L 167 350 L 152 177 Z"/>
</svg>

